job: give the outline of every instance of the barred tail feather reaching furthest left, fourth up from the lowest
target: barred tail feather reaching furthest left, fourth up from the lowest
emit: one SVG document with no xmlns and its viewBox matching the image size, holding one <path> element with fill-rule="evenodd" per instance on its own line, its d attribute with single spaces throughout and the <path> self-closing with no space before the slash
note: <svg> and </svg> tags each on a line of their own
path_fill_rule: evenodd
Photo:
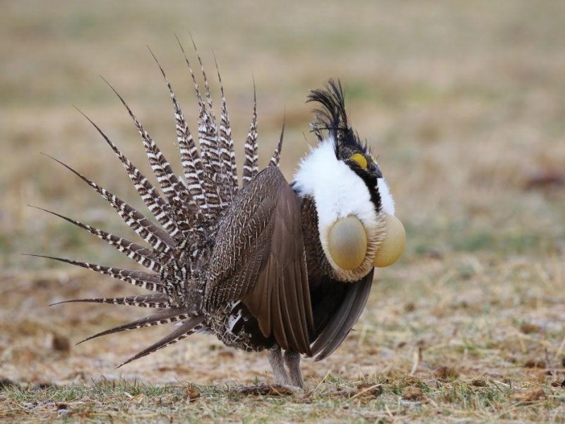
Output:
<svg viewBox="0 0 565 424">
<path fill-rule="evenodd" d="M 146 273 L 143 271 L 133 271 L 131 269 L 115 268 L 114 266 L 90 264 L 90 262 L 75 261 L 73 259 L 52 257 L 43 254 L 26 255 L 31 257 L 54 259 L 55 261 L 65 262 L 66 264 L 82 266 L 83 268 L 104 274 L 105 276 L 111 276 L 112 278 L 116 278 L 117 280 L 124 281 L 131 285 L 137 285 L 138 287 L 145 288 L 145 290 L 150 290 L 158 293 L 165 293 L 166 291 L 165 286 L 161 284 L 160 276 L 155 273 Z"/>
</svg>

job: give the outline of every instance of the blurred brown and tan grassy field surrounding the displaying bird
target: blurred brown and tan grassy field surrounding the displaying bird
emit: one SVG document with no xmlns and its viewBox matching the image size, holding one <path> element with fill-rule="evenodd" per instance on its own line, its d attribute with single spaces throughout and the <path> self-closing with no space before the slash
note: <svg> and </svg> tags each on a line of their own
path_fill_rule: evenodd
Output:
<svg viewBox="0 0 565 424">
<path fill-rule="evenodd" d="M 0 420 L 565 421 L 565 3 L 6 1 L 0 13 Z M 80 107 L 150 169 L 108 78 L 179 170 L 172 108 L 145 45 L 195 125 L 174 34 L 218 57 L 238 152 L 253 79 L 262 162 L 283 117 L 288 179 L 314 143 L 310 88 L 341 78 L 408 232 L 367 310 L 307 389 L 270 382 L 266 354 L 192 336 L 115 370 L 169 329 L 74 346 L 143 311 L 60 305 L 136 293 L 21 252 L 127 265 L 66 216 L 133 237 L 112 208 L 40 152 L 134 205 L 123 168 Z M 194 52 L 189 49 L 192 59 Z M 217 92 L 217 85 L 214 85 Z M 241 158 L 241 155 L 239 155 Z"/>
</svg>

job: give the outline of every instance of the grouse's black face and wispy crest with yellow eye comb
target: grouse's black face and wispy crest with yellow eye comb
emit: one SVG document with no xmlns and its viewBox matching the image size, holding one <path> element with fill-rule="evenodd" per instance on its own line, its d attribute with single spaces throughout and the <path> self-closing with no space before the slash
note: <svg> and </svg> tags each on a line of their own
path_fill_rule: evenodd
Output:
<svg viewBox="0 0 565 424">
<path fill-rule="evenodd" d="M 322 106 L 321 109 L 314 110 L 316 122 L 311 124 L 314 134 L 321 141 L 321 131 L 328 132 L 335 141 L 336 158 L 345 162 L 364 181 L 378 213 L 381 209 L 381 196 L 376 181 L 383 174 L 367 145 L 361 143 L 348 122 L 341 83 L 328 81 L 326 90 L 312 90 L 308 101 L 318 102 Z"/>
</svg>

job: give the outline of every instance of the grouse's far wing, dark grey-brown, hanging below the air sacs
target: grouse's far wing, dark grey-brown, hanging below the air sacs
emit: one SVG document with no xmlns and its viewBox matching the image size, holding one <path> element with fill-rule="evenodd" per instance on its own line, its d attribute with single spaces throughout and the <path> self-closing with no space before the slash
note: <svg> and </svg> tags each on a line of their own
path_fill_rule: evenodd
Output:
<svg viewBox="0 0 565 424">
<path fill-rule="evenodd" d="M 316 305 L 314 312 L 316 317 L 320 312 L 319 310 L 326 315 L 326 318 L 320 317 L 323 324 L 318 329 L 316 341 L 314 341 L 311 347 L 312 355 L 316 356 L 316 360 L 322 360 L 331 355 L 340 346 L 355 325 L 355 322 L 357 322 L 357 319 L 359 319 L 365 305 L 367 305 L 369 293 L 371 293 L 373 273 L 374 269 L 361 280 L 355 281 L 355 283 L 339 283 L 340 288 L 343 288 L 343 290 L 335 290 L 336 293 L 342 296 L 342 300 L 338 303 L 339 306 L 328 300 L 328 298 L 325 298 L 321 305 Z M 324 288 L 331 289 L 331 284 L 322 287 L 322 290 Z M 328 311 L 327 307 L 329 305 L 332 305 L 332 308 L 337 306 L 337 308 Z M 316 318 L 317 323 L 318 318 Z"/>
</svg>

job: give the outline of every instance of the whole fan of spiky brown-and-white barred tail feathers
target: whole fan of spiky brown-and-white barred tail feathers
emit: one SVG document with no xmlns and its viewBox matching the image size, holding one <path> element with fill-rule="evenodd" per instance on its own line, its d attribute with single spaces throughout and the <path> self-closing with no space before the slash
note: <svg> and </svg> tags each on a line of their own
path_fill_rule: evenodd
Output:
<svg viewBox="0 0 565 424">
<path fill-rule="evenodd" d="M 145 131 L 141 123 L 138 122 L 138 119 L 135 117 L 124 98 L 122 98 L 121 95 L 117 93 L 117 90 L 115 90 L 109 83 L 109 87 L 112 88 L 114 93 L 116 93 L 117 97 L 122 102 L 129 116 L 133 120 L 133 124 L 136 126 L 136 129 L 141 135 L 145 153 L 148 156 L 149 163 L 155 174 L 159 187 L 165 195 L 164 197 L 161 196 L 161 194 L 157 191 L 157 188 L 148 181 L 138 168 L 133 165 L 133 163 L 131 163 L 131 161 L 126 158 L 123 153 L 121 153 L 119 148 L 112 143 L 100 127 L 79 110 L 79 112 L 88 119 L 90 124 L 92 124 L 105 139 L 109 147 L 112 148 L 112 151 L 114 151 L 114 154 L 117 155 L 117 158 L 126 169 L 126 172 L 138 194 L 141 196 L 143 203 L 147 206 L 162 228 L 151 222 L 151 220 L 136 210 L 136 208 L 133 208 L 129 204 L 126 204 L 125 201 L 119 199 L 119 197 L 95 184 L 95 182 L 84 177 L 76 170 L 73 170 L 73 168 L 69 165 L 53 158 L 75 175 L 83 179 L 86 184 L 90 185 L 90 187 L 100 194 L 100 196 L 106 199 L 106 201 L 108 201 L 108 203 L 117 211 L 126 224 L 129 225 L 129 227 L 132 228 L 145 242 L 147 242 L 152 249 L 147 249 L 141 245 L 131 242 L 130 240 L 126 240 L 88 224 L 81 223 L 78 220 L 73 220 L 66 216 L 59 215 L 59 213 L 42 209 L 43 211 L 59 216 L 73 225 L 77 225 L 79 228 L 83 228 L 83 230 L 105 240 L 105 242 L 109 245 L 126 254 L 126 256 L 130 257 L 138 264 L 145 266 L 145 268 L 148 268 L 152 272 L 148 273 L 144 271 L 121 269 L 113 266 L 102 266 L 61 257 L 30 255 L 54 259 L 75 266 L 82 266 L 83 268 L 90 269 L 97 273 L 102 273 L 126 283 L 137 285 L 138 287 L 155 292 L 149 295 L 135 295 L 125 298 L 76 299 L 54 303 L 53 305 L 59 305 L 67 302 L 93 302 L 160 309 L 160 312 L 142 319 L 137 319 L 127 324 L 122 324 L 106 331 L 102 331 L 90 336 L 84 341 L 107 334 L 117 333 L 119 331 L 138 329 L 144 326 L 167 324 L 169 322 L 177 321 L 182 322 L 182 324 L 172 331 L 171 334 L 165 336 L 165 338 L 162 338 L 160 341 L 157 341 L 157 343 L 154 343 L 152 346 L 145 348 L 140 353 L 132 356 L 124 363 L 121 363 L 119 367 L 131 362 L 132 360 L 149 355 L 161 348 L 170 346 L 173 343 L 177 343 L 177 341 L 194 334 L 196 331 L 208 328 L 204 317 L 191 316 L 191 314 L 187 312 L 188 308 L 184 307 L 184 305 L 177 305 L 174 302 L 174 299 L 170 297 L 169 291 L 161 279 L 160 272 L 165 266 L 165 263 L 174 260 L 173 258 L 177 257 L 179 249 L 184 249 L 186 247 L 187 237 L 190 239 L 194 231 L 202 230 L 203 225 L 208 225 L 210 220 L 218 218 L 219 213 L 231 204 L 232 199 L 234 199 L 234 196 L 237 194 L 237 190 L 239 189 L 237 182 L 234 142 L 232 139 L 232 130 L 230 126 L 230 119 L 227 114 L 224 88 L 222 86 L 220 71 L 218 69 L 218 62 L 216 61 L 215 64 L 216 70 L 218 71 L 218 81 L 220 82 L 220 93 L 222 96 L 219 131 L 216 126 L 216 118 L 213 112 L 210 86 L 206 73 L 203 69 L 201 57 L 198 55 L 198 52 L 196 52 L 198 62 L 201 65 L 206 102 L 198 88 L 196 76 L 192 71 L 189 60 L 186 58 L 184 48 L 180 41 L 179 46 L 182 49 L 186 65 L 189 67 L 191 79 L 194 83 L 196 98 L 198 100 L 198 143 L 200 145 L 201 153 L 198 153 L 198 148 L 196 147 L 194 138 L 189 130 L 188 124 L 186 123 L 186 119 L 184 119 L 184 115 L 182 114 L 179 102 L 174 95 L 172 86 L 167 80 L 165 71 L 162 69 L 162 66 L 157 61 L 153 52 L 151 52 L 151 54 L 155 58 L 155 61 L 157 61 L 157 66 L 159 66 L 163 78 L 165 78 L 165 83 L 172 100 L 179 151 L 186 183 L 177 177 L 177 175 L 174 175 L 172 167 L 169 165 L 165 155 L 163 155 L 162 151 L 160 151 L 160 148 L 158 148 L 153 139 L 150 138 L 148 132 Z M 196 50 L 196 45 L 194 48 Z M 278 166 L 281 146 L 283 143 L 283 135 L 284 124 L 283 131 L 281 131 L 280 134 L 280 141 L 273 153 L 273 157 L 270 159 L 269 165 L 271 166 Z M 249 182 L 251 178 L 257 174 L 257 172 L 257 112 L 256 93 L 254 87 L 253 114 L 249 134 L 245 143 L 243 183 L 246 184 Z"/>
</svg>

